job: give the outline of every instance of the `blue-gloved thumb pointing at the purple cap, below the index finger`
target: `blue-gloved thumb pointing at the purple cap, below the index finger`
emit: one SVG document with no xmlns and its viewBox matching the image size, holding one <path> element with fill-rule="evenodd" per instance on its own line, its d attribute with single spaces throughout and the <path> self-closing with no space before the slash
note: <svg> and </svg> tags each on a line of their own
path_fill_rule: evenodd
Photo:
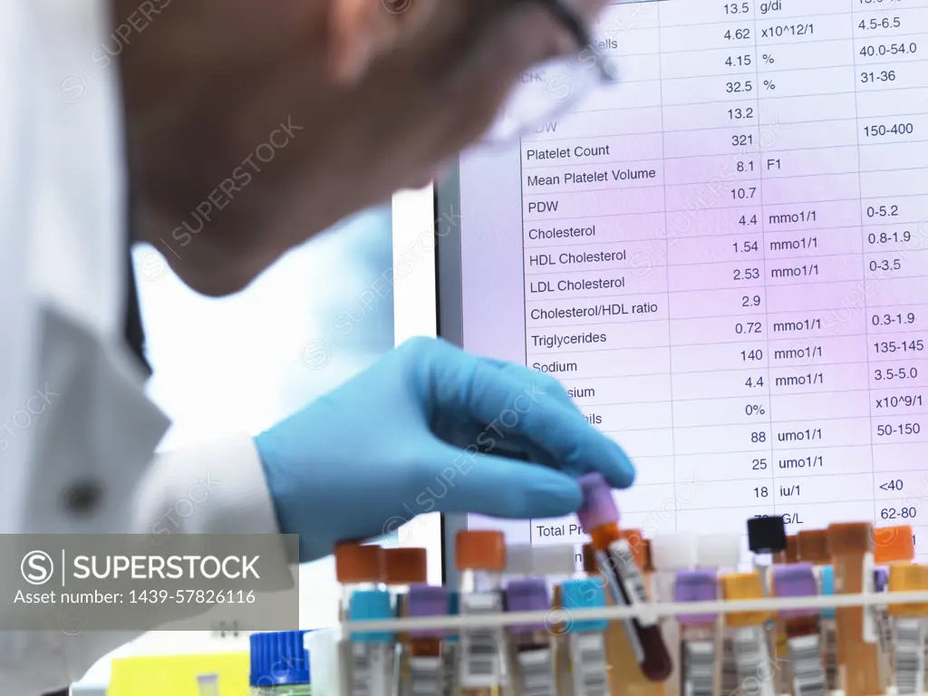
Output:
<svg viewBox="0 0 928 696">
<path fill-rule="evenodd" d="M 527 520 L 563 517 L 583 503 L 574 478 L 558 470 L 462 452 L 439 440 L 431 458 L 435 470 L 425 495 L 440 512 Z"/>
</svg>

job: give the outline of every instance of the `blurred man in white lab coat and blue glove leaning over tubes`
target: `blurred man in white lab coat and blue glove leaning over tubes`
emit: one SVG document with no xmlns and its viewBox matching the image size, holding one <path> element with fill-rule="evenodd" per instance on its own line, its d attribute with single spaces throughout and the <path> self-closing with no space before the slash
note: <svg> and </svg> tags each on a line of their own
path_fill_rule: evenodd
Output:
<svg viewBox="0 0 928 696">
<path fill-rule="evenodd" d="M 574 50 L 554 1 L 0 3 L 0 533 L 283 532 L 310 561 L 452 476 L 416 511 L 549 517 L 579 472 L 630 484 L 554 380 L 429 340 L 256 438 L 152 458 L 132 242 L 194 290 L 244 288 L 427 183 L 522 71 Z M 133 637 L 0 633 L 0 694 L 64 688 Z"/>
</svg>

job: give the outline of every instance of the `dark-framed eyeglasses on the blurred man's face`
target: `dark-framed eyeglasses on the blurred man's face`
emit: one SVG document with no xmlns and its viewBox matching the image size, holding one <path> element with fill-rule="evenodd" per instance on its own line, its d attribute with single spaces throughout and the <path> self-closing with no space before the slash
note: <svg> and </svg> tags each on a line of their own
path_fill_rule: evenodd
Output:
<svg viewBox="0 0 928 696">
<path fill-rule="evenodd" d="M 571 110 L 599 86 L 617 84 L 614 58 L 600 50 L 606 42 L 594 41 L 586 22 L 563 0 L 533 0 L 557 19 L 568 32 L 576 52 L 555 58 L 525 72 L 507 97 L 496 122 L 483 135 L 483 143 L 507 144 L 543 127 L 545 122 Z"/>
</svg>

